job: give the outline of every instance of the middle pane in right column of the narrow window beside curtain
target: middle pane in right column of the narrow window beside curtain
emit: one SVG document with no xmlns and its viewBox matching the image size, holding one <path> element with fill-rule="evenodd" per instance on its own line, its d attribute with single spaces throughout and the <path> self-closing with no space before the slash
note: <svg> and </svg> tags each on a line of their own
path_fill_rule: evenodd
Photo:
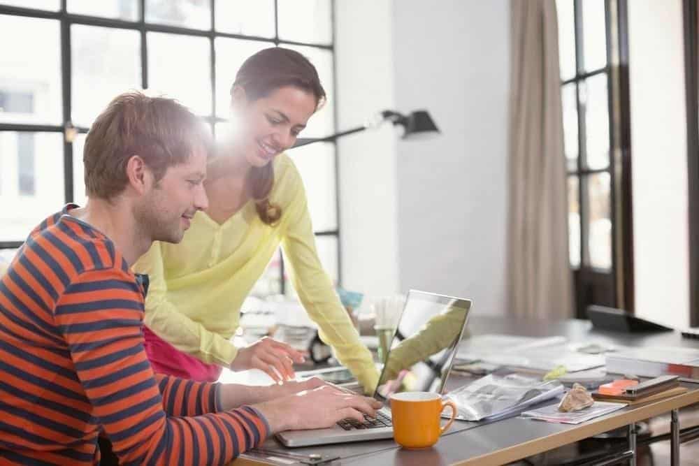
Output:
<svg viewBox="0 0 699 466">
<path fill-rule="evenodd" d="M 607 73 L 595 75 L 582 85 L 585 95 L 580 99 L 586 105 L 587 151 L 586 166 L 588 168 L 605 168 L 610 160 L 610 122 L 609 100 L 607 98 Z"/>
</svg>

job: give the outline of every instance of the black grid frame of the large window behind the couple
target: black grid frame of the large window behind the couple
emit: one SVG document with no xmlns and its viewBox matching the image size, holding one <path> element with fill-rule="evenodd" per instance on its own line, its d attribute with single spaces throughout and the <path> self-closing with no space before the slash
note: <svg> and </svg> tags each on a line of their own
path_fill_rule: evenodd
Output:
<svg viewBox="0 0 699 466">
<path fill-rule="evenodd" d="M 281 39 L 279 37 L 279 17 L 278 17 L 278 0 L 274 0 L 274 36 L 273 37 L 262 37 L 262 36 L 250 36 L 245 34 L 231 34 L 227 32 L 221 32 L 216 30 L 216 1 L 208 0 L 210 6 L 210 29 L 191 29 L 188 27 L 173 26 L 168 24 L 157 24 L 145 21 L 146 16 L 146 0 L 138 0 L 138 20 L 119 20 L 108 17 L 99 17 L 91 15 L 80 15 L 76 13 L 69 13 L 67 10 L 68 0 L 61 0 L 61 8 L 57 11 L 50 10 L 37 10 L 34 8 L 24 8 L 20 6 L 9 6 L 0 4 L 0 15 L 10 15 L 10 16 L 21 16 L 21 17 L 32 17 L 41 19 L 50 19 L 59 21 L 59 31 L 60 31 L 60 48 L 61 48 L 61 77 L 62 77 L 62 121 L 64 122 L 62 126 L 58 125 L 47 125 L 47 124 L 13 124 L 13 123 L 0 123 L 0 131 L 17 131 L 18 133 L 23 132 L 48 132 L 48 133 L 62 133 L 63 138 L 63 168 L 64 168 L 64 201 L 65 203 L 70 203 L 73 201 L 73 187 L 75 180 L 73 180 L 73 138 L 77 134 L 87 133 L 88 129 L 86 126 L 73 126 L 71 122 L 71 112 L 72 112 L 72 64 L 71 64 L 71 26 L 73 24 L 82 24 L 87 26 L 96 27 L 109 27 L 115 29 L 128 29 L 132 31 L 138 31 L 140 33 L 140 70 L 141 70 L 141 82 L 140 85 L 143 89 L 148 87 L 148 48 L 147 48 L 147 33 L 148 32 L 163 32 L 168 34 L 180 34 L 184 36 L 194 36 L 194 37 L 204 37 L 208 38 L 209 50 L 210 50 L 210 86 L 211 86 L 211 113 L 210 115 L 200 115 L 204 121 L 208 122 L 212 128 L 212 133 L 215 136 L 215 125 L 219 122 L 225 122 L 226 119 L 217 116 L 216 108 L 216 52 L 215 52 L 215 39 L 222 38 L 233 38 L 233 39 L 243 39 L 246 41 L 264 41 L 266 43 L 273 43 L 275 46 L 279 45 L 303 45 L 311 48 L 329 50 L 332 53 L 332 66 L 333 66 L 333 92 L 337 89 L 337 77 L 336 77 L 336 54 L 335 54 L 335 0 L 327 0 L 330 3 L 331 8 L 331 43 L 329 44 L 318 44 L 318 43 L 306 43 L 298 41 L 289 41 Z M 333 115 L 333 132 L 337 131 L 337 121 L 338 121 L 338 107 L 334 106 Z M 316 236 L 331 236 L 335 237 L 337 240 L 337 262 L 338 262 L 338 283 L 342 281 L 342 268 L 341 268 L 341 250 L 340 250 L 340 193 L 339 193 L 339 173 L 338 173 L 338 151 L 336 141 L 332 141 L 333 145 L 336 146 L 335 153 L 335 181 L 336 181 L 336 218 L 337 224 L 336 228 L 326 231 L 315 231 Z M 48 212 L 47 212 L 48 213 Z M 27 232 L 28 233 L 28 232 Z M 16 249 L 22 245 L 24 241 L 0 241 L 0 249 Z M 284 285 L 284 259 L 280 256 L 280 290 L 283 294 L 285 292 Z"/>
</svg>

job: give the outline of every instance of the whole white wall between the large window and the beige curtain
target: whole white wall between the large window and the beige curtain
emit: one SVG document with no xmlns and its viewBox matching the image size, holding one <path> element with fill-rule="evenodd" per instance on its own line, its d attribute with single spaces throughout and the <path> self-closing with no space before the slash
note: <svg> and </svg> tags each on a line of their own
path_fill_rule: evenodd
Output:
<svg viewBox="0 0 699 466">
<path fill-rule="evenodd" d="M 426 108 L 442 131 L 340 140 L 348 288 L 424 289 L 504 312 L 509 17 L 506 0 L 336 2 L 339 128 Z"/>
</svg>

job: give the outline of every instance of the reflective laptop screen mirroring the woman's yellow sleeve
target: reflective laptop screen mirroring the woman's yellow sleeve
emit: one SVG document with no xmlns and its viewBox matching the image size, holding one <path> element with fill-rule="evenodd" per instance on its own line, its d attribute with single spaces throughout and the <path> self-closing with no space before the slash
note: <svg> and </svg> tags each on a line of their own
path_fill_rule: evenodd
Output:
<svg viewBox="0 0 699 466">
<path fill-rule="evenodd" d="M 410 290 L 374 398 L 385 401 L 401 391 L 441 393 L 470 305 L 470 300 Z"/>
</svg>

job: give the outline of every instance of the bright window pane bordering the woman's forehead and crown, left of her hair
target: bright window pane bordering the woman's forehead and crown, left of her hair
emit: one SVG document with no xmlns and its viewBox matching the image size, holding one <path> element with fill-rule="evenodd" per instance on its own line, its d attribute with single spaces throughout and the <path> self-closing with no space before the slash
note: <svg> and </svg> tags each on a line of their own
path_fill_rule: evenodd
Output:
<svg viewBox="0 0 699 466">
<path fill-rule="evenodd" d="M 260 50 L 274 47 L 274 43 L 217 37 L 214 45 L 216 48 L 216 114 L 219 117 L 228 118 L 231 86 L 236 80 L 238 68 L 247 57 Z"/>
</svg>

